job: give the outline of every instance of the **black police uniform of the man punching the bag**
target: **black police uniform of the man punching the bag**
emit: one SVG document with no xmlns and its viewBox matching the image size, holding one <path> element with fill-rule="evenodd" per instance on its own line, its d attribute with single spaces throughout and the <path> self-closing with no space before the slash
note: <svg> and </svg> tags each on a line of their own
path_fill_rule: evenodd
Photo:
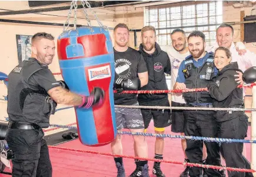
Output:
<svg viewBox="0 0 256 177">
<path fill-rule="evenodd" d="M 16 66 L 8 76 L 6 141 L 14 153 L 12 176 L 52 176 L 42 128 L 49 127 L 56 107 L 46 91 L 56 86 L 61 85 L 48 66 L 34 58 Z"/>
</svg>

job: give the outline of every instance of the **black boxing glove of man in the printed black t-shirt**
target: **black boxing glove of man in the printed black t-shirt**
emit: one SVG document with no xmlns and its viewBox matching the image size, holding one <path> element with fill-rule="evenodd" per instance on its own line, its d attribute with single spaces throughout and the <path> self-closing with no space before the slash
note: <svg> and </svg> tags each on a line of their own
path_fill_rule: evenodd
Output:
<svg viewBox="0 0 256 177">
<path fill-rule="evenodd" d="M 115 83 L 115 88 L 122 90 L 139 90 L 141 88 L 141 80 L 138 77 L 130 77 L 124 79 L 118 84 L 118 80 Z"/>
</svg>

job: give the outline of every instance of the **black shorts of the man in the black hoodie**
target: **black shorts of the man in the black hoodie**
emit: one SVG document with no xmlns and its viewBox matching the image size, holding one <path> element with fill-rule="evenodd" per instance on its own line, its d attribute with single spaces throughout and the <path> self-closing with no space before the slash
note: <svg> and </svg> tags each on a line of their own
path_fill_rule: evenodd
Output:
<svg viewBox="0 0 256 177">
<path fill-rule="evenodd" d="M 144 103 L 139 103 L 139 105 L 148 105 Z M 150 104 L 152 105 L 152 103 Z M 155 106 L 170 106 L 169 100 L 164 99 L 158 102 L 155 102 Z M 155 128 L 164 128 L 171 125 L 171 110 L 157 110 L 157 109 L 144 109 L 141 108 L 142 117 L 144 120 L 145 129 L 148 128 L 149 123 L 153 117 L 154 127 Z"/>
</svg>

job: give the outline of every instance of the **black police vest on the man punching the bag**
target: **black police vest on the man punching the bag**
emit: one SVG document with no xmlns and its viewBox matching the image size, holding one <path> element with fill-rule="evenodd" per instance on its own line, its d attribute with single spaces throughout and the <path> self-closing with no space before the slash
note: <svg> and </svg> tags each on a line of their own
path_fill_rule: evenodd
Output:
<svg viewBox="0 0 256 177">
<path fill-rule="evenodd" d="M 56 103 L 44 88 L 32 90 L 28 85 L 32 74 L 45 68 L 48 66 L 31 58 L 16 66 L 9 74 L 7 112 L 10 121 L 49 127 L 49 117 L 55 113 Z"/>
</svg>

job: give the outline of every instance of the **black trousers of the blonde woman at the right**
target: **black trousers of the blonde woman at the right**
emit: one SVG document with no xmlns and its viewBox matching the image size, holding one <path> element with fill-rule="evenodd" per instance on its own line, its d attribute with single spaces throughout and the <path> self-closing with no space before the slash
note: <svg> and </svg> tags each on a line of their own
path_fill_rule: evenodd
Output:
<svg viewBox="0 0 256 177">
<path fill-rule="evenodd" d="M 244 139 L 248 130 L 248 117 L 241 115 L 240 117 L 218 122 L 219 138 Z M 226 166 L 233 168 L 251 169 L 250 162 L 242 155 L 243 143 L 232 142 L 221 144 L 221 154 L 225 159 Z M 228 171 L 229 177 L 245 177 L 252 176 L 252 173 Z"/>
</svg>

